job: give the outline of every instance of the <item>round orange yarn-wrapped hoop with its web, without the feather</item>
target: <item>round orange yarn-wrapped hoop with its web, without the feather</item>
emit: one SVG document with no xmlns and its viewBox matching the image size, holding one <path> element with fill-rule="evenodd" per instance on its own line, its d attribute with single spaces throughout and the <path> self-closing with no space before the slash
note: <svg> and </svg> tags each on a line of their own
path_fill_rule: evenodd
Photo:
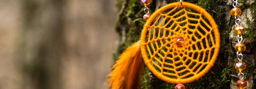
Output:
<svg viewBox="0 0 256 89">
<path fill-rule="evenodd" d="M 182 47 L 177 39 L 183 38 Z M 189 83 L 204 76 L 218 56 L 220 34 L 211 15 L 183 2 L 163 6 L 145 23 L 141 35 L 145 64 L 169 83 Z"/>
</svg>

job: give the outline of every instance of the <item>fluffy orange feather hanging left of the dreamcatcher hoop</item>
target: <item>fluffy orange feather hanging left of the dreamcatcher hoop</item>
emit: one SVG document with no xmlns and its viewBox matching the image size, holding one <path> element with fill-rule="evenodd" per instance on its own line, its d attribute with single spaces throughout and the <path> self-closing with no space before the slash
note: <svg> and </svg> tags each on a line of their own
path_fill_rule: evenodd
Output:
<svg viewBox="0 0 256 89">
<path fill-rule="evenodd" d="M 143 72 L 143 57 L 140 41 L 128 47 L 109 74 L 109 86 L 112 89 L 140 89 L 140 75 Z"/>
</svg>

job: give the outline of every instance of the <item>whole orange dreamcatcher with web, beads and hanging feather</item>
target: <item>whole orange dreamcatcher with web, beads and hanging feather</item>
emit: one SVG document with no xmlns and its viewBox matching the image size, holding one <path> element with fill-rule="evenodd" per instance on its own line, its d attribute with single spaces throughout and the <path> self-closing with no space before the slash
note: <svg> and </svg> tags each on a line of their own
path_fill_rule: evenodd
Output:
<svg viewBox="0 0 256 89">
<path fill-rule="evenodd" d="M 143 61 L 157 78 L 185 89 L 204 76 L 214 65 L 220 48 L 218 26 L 212 16 L 192 3 L 171 3 L 149 14 L 141 39 L 128 47 L 113 66 L 109 83 L 112 89 L 140 89 Z M 144 59 L 144 60 L 143 60 Z"/>
</svg>

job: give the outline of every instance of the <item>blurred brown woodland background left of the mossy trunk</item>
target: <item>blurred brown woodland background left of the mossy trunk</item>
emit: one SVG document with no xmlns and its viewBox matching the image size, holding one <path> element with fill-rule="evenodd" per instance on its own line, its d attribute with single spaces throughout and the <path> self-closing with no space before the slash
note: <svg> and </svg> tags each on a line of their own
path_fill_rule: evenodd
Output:
<svg viewBox="0 0 256 89">
<path fill-rule="evenodd" d="M 117 0 L 0 2 L 0 89 L 108 89 Z"/>
</svg>

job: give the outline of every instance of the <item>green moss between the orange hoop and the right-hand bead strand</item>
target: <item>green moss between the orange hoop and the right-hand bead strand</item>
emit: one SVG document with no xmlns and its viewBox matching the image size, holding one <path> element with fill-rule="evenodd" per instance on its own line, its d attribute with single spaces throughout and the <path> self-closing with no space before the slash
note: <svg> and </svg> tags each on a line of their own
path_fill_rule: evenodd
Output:
<svg viewBox="0 0 256 89">
<path fill-rule="evenodd" d="M 226 9 L 223 0 L 189 0 L 187 2 L 195 3 L 198 6 L 206 9 L 209 14 L 215 19 L 220 29 L 221 34 L 221 49 L 218 60 L 215 66 L 202 78 L 192 83 L 184 84 L 187 89 L 230 89 L 230 72 L 231 67 L 227 65 L 228 57 L 230 56 L 229 33 L 231 26 L 227 25 L 225 19 Z M 174 89 L 175 84 L 163 83 L 162 89 Z M 164 88 L 165 87 L 165 88 Z M 157 87 L 155 87 L 157 88 Z M 153 88 L 154 89 L 154 88 Z"/>
</svg>

